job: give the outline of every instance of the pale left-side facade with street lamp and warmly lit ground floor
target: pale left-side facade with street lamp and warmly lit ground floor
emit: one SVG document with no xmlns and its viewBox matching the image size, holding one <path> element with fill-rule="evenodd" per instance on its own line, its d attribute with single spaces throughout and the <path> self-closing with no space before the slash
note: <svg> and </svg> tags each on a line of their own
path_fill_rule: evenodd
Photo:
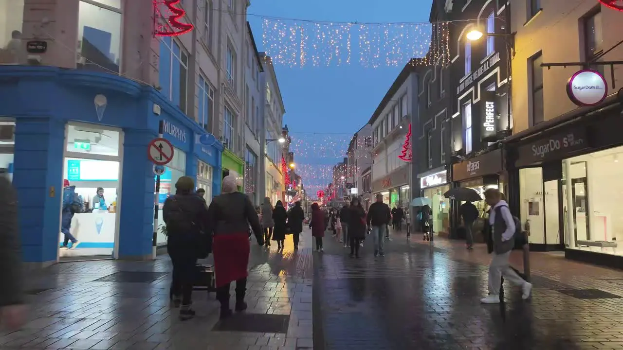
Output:
<svg viewBox="0 0 623 350">
<path fill-rule="evenodd" d="M 273 204 L 277 201 L 283 201 L 283 192 L 285 191 L 284 169 L 282 159 L 285 161 L 283 154 L 283 115 L 285 107 L 281 96 L 281 90 L 277 83 L 277 75 L 272 65 L 272 60 L 264 52 L 260 52 L 260 58 L 264 65 L 264 74 L 262 83 L 264 86 L 264 131 L 262 145 L 263 152 L 260 154 L 262 166 L 264 169 L 264 193 L 265 197 L 269 197 Z M 283 141 L 283 142 L 280 142 Z"/>
</svg>

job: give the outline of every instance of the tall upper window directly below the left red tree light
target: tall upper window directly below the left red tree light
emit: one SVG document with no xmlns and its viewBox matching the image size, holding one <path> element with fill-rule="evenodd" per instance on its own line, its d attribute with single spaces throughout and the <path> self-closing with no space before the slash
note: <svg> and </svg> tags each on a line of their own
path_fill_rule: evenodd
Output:
<svg viewBox="0 0 623 350">
<path fill-rule="evenodd" d="M 188 54 L 171 37 L 160 39 L 158 80 L 160 93 L 186 113 L 188 102 Z"/>
</svg>

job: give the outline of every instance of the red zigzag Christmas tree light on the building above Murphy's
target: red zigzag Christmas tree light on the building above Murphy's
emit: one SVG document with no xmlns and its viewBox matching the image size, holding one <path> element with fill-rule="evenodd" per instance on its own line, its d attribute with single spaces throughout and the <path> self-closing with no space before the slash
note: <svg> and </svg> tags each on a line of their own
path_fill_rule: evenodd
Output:
<svg viewBox="0 0 623 350">
<path fill-rule="evenodd" d="M 163 37 L 174 37 L 193 30 L 192 24 L 179 20 L 186 16 L 180 0 L 154 0 L 154 34 Z M 164 5 L 164 7 L 162 6 Z"/>
</svg>

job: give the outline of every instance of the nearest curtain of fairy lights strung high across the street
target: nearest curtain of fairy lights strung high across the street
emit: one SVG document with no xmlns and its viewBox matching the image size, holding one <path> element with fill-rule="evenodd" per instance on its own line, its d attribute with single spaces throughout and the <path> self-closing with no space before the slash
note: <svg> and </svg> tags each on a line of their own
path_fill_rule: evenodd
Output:
<svg viewBox="0 0 623 350">
<path fill-rule="evenodd" d="M 449 22 L 335 23 L 264 18 L 262 28 L 267 55 L 273 63 L 289 67 L 430 65 L 442 64 L 450 57 Z"/>
</svg>

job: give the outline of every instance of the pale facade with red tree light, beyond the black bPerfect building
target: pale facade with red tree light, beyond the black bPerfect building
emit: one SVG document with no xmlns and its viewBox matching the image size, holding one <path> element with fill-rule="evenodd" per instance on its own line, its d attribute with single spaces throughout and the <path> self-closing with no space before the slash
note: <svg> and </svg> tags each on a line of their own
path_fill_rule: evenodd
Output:
<svg viewBox="0 0 623 350">
<path fill-rule="evenodd" d="M 412 191 L 419 193 L 419 186 L 411 187 L 412 135 L 418 132 L 416 65 L 405 65 L 368 121 L 373 128 L 372 194 L 383 194 L 391 207 L 409 208 Z"/>
</svg>

